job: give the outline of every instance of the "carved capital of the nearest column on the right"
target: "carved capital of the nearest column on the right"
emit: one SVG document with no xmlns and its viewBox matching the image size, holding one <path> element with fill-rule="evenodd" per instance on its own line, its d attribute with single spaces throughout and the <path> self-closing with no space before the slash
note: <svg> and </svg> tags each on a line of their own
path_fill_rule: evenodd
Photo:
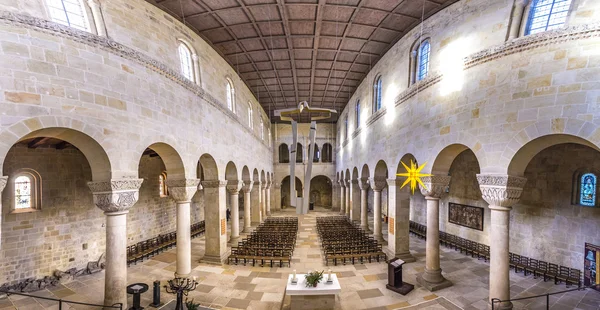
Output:
<svg viewBox="0 0 600 310">
<path fill-rule="evenodd" d="M 527 179 L 506 174 L 478 174 L 477 182 L 481 197 L 490 204 L 490 209 L 510 210 L 521 198 Z"/>
</svg>

